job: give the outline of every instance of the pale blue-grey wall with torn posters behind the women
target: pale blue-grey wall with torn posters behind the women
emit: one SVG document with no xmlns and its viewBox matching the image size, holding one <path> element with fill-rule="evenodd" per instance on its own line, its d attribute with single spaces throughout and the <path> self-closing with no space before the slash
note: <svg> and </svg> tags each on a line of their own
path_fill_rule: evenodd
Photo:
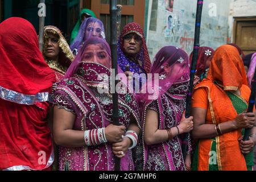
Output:
<svg viewBox="0 0 256 182">
<path fill-rule="evenodd" d="M 232 0 L 204 1 L 201 46 L 216 49 L 227 42 L 230 1 Z M 174 0 L 172 12 L 171 9 L 167 10 L 166 2 L 166 0 L 158 0 L 157 21 L 153 22 L 156 23 L 156 31 L 149 30 L 147 34 L 147 46 L 151 59 L 164 46 L 181 47 L 188 54 L 191 53 L 193 48 L 196 1 Z M 168 24 L 168 16 L 170 15 L 172 20 Z"/>
</svg>

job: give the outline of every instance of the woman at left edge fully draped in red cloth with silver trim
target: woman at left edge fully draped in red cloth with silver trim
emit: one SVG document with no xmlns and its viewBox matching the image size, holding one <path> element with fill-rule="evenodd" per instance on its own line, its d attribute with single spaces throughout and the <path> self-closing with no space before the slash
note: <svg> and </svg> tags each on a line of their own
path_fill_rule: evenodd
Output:
<svg viewBox="0 0 256 182">
<path fill-rule="evenodd" d="M 53 148 L 45 101 L 55 74 L 27 20 L 9 18 L 0 24 L 0 68 L 0 170 L 46 169 Z"/>
</svg>

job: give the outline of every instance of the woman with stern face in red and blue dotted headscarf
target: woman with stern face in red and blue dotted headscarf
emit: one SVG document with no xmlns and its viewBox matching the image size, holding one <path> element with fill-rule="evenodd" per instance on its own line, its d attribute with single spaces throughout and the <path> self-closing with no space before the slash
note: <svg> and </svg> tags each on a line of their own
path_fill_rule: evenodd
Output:
<svg viewBox="0 0 256 182">
<path fill-rule="evenodd" d="M 133 75 L 133 83 L 129 85 L 134 88 L 135 93 L 139 93 L 141 86 L 147 80 L 151 61 L 143 29 L 138 23 L 128 23 L 123 27 L 117 43 L 117 54 L 117 62 L 121 68 L 119 73 L 124 72 L 127 76 Z"/>
</svg>

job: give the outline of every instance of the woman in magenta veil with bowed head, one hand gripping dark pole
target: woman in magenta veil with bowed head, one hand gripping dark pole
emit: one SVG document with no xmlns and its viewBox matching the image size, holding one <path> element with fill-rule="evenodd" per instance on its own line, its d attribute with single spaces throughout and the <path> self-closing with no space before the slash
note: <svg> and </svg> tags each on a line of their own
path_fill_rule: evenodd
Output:
<svg viewBox="0 0 256 182">
<path fill-rule="evenodd" d="M 143 169 L 184 171 L 191 166 L 191 142 L 184 161 L 181 139 L 193 129 L 193 117 L 185 118 L 189 85 L 189 59 L 182 49 L 167 46 L 156 54 L 152 79 L 143 86 Z M 146 90 L 148 89 L 148 90 Z M 150 89 L 150 90 L 149 90 Z M 151 94 L 152 93 L 152 94 Z"/>
</svg>

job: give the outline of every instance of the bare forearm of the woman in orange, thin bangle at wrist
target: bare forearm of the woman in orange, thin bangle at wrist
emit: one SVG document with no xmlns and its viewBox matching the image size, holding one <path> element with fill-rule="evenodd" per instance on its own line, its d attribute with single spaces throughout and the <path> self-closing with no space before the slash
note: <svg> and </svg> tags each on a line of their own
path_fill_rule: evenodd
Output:
<svg viewBox="0 0 256 182">
<path fill-rule="evenodd" d="M 192 131 L 193 138 L 196 139 L 206 139 L 206 138 L 213 138 L 217 136 L 217 132 L 215 129 L 215 124 L 203 124 L 194 127 Z M 220 123 L 220 130 L 221 133 L 228 133 L 233 130 L 237 130 L 236 126 L 234 125 L 234 121 L 228 121 L 224 123 Z"/>
</svg>

